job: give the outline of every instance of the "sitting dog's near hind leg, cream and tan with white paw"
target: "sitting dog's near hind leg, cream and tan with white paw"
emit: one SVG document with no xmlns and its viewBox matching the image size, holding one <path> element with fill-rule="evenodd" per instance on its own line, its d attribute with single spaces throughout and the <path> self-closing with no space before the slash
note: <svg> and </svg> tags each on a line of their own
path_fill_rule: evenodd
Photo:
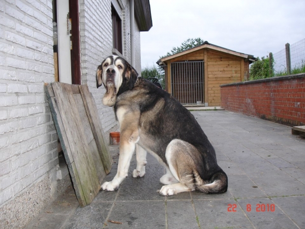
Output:
<svg viewBox="0 0 305 229">
<path fill-rule="evenodd" d="M 194 175 L 194 170 L 196 166 L 193 158 L 190 156 L 194 150 L 196 150 L 195 147 L 182 140 L 174 139 L 169 143 L 166 148 L 165 157 L 170 173 L 178 183 L 164 185 L 160 190 L 161 195 L 173 195 L 195 190 L 194 176 L 197 175 Z"/>
</svg>

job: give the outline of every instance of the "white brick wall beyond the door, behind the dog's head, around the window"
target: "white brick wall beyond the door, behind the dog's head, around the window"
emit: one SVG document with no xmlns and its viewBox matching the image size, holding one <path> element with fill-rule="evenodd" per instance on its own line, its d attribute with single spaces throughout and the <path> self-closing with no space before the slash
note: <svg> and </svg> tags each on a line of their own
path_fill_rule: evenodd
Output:
<svg viewBox="0 0 305 229">
<path fill-rule="evenodd" d="M 130 62 L 130 6 L 128 0 L 122 0 L 123 9 L 123 54 Z M 135 22 L 136 23 L 136 22 Z M 95 98 L 102 127 L 105 132 L 117 128 L 112 107 L 105 107 L 102 98 L 104 87 L 96 89 L 96 70 L 102 61 L 112 54 L 112 21 L 111 0 L 80 1 L 80 35 L 82 83 L 86 83 Z M 141 72 L 140 32 L 135 25 L 136 38 L 136 70 Z M 108 133 L 107 133 L 108 134 Z"/>
</svg>

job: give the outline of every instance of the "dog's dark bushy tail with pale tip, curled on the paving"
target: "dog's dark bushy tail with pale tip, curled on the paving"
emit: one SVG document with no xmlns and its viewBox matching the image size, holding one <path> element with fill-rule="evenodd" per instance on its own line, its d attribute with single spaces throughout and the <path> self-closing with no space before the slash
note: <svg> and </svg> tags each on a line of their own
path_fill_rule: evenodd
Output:
<svg viewBox="0 0 305 229">
<path fill-rule="evenodd" d="M 196 189 L 203 193 L 224 193 L 228 189 L 228 177 L 223 170 L 219 170 L 211 177 L 208 184 L 200 185 Z"/>
</svg>

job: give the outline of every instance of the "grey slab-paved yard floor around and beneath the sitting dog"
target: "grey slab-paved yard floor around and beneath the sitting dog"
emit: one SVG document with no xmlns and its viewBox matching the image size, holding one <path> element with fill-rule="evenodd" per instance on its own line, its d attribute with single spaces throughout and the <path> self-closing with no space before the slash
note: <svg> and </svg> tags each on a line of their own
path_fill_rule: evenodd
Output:
<svg viewBox="0 0 305 229">
<path fill-rule="evenodd" d="M 145 177 L 132 178 L 133 157 L 129 177 L 117 191 L 100 191 L 92 204 L 80 208 L 71 187 L 26 229 L 305 228 L 305 139 L 291 135 L 290 127 L 233 112 L 192 113 L 228 175 L 226 193 L 193 191 L 161 196 L 156 191 L 162 187 L 159 179 L 164 168 L 147 155 Z M 116 174 L 117 151 L 104 181 L 111 181 Z M 263 204 L 274 204 L 275 211 L 256 211 L 257 205 Z M 251 211 L 247 205 L 252 206 Z"/>
</svg>

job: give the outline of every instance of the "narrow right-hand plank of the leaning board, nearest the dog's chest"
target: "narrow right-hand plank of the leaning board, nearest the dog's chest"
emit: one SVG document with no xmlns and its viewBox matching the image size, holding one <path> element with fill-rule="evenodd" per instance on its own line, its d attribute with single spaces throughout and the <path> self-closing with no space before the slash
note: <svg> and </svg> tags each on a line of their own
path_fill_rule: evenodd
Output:
<svg viewBox="0 0 305 229">
<path fill-rule="evenodd" d="M 109 152 L 108 145 L 104 141 L 105 138 L 103 136 L 102 124 L 99 117 L 97 116 L 98 111 L 96 108 L 96 104 L 86 85 L 80 85 L 79 90 L 82 95 L 84 107 L 88 115 L 89 123 L 92 128 L 94 138 L 96 139 L 97 148 L 99 150 L 105 172 L 106 174 L 109 174 L 113 161 Z"/>
</svg>

